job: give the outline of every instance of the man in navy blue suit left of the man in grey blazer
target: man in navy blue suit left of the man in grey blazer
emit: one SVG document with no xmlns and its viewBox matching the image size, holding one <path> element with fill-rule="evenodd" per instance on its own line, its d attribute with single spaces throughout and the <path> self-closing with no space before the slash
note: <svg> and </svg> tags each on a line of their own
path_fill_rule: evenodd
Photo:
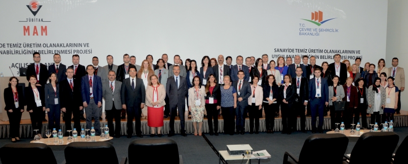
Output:
<svg viewBox="0 0 408 164">
<path fill-rule="evenodd" d="M 102 80 L 94 75 L 93 65 L 87 65 L 88 75 L 81 79 L 82 102 L 86 112 L 86 128 L 92 127 L 92 117 L 95 118 L 93 127 L 96 135 L 100 135 L 99 112 L 102 107 Z"/>
</svg>

